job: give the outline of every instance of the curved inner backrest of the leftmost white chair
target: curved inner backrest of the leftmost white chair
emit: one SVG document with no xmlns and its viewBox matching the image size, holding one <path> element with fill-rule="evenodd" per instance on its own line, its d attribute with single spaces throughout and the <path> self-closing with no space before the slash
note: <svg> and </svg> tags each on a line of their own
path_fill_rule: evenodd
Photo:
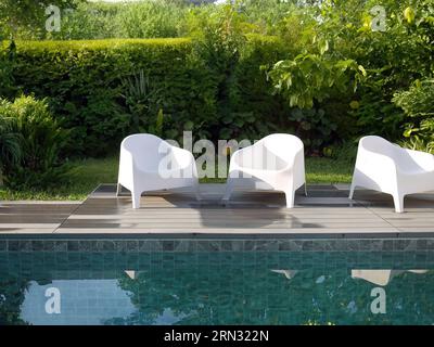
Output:
<svg viewBox="0 0 434 347">
<path fill-rule="evenodd" d="M 138 167 L 144 170 L 156 170 L 161 160 L 171 153 L 171 145 L 156 136 L 138 133 L 127 137 L 122 149 L 130 152 Z"/>
</svg>

